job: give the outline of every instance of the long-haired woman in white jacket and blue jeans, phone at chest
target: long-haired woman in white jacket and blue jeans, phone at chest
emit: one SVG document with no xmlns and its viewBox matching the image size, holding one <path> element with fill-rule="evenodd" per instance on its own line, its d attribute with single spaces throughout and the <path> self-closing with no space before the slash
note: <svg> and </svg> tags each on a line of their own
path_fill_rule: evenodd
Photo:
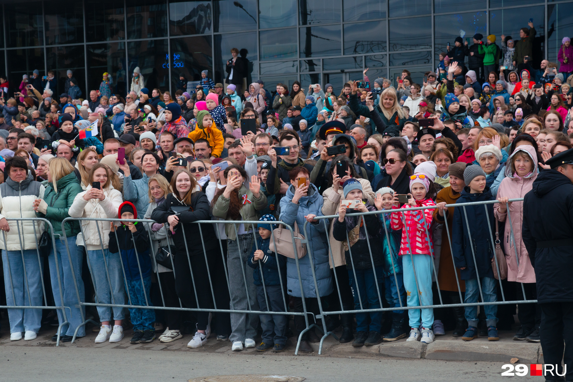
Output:
<svg viewBox="0 0 573 382">
<path fill-rule="evenodd" d="M 111 184 L 111 170 L 103 164 L 95 164 L 89 170 L 88 186 L 84 192 L 76 195 L 68 214 L 70 217 L 116 218 L 117 210 L 123 202 L 121 192 Z M 99 188 L 92 185 L 98 182 Z M 89 271 L 97 301 L 102 304 L 125 304 L 125 288 L 121 257 L 119 252 L 109 253 L 109 223 L 107 221 L 81 220 L 81 233 L 77 235 L 76 245 L 83 245 L 88 254 Z M 104 259 L 105 257 L 105 259 Z M 108 282 L 109 281 L 109 282 Z M 113 309 L 112 327 L 111 313 Z M 101 328 L 95 343 L 109 340 L 114 343 L 123 339 L 121 325 L 125 312 L 118 307 L 97 307 Z"/>
</svg>

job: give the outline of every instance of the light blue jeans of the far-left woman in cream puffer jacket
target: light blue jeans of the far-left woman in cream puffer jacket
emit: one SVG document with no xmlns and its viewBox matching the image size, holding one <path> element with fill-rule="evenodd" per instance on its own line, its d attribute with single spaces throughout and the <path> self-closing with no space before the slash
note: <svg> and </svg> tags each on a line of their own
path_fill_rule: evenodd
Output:
<svg viewBox="0 0 573 382">
<path fill-rule="evenodd" d="M 23 261 L 22 261 L 23 257 Z M 4 287 L 6 288 L 6 305 L 42 305 L 42 278 L 44 258 L 38 258 L 36 249 L 2 250 L 4 264 Z M 26 274 L 24 274 L 24 268 Z M 12 282 L 10 284 L 10 276 Z M 28 286 L 26 287 L 26 282 Z M 14 286 L 14 289 L 12 288 Z M 30 294 L 28 295 L 28 291 Z M 14 294 L 13 294 L 14 293 Z M 42 309 L 8 309 L 10 333 L 32 331 L 38 333 L 42 321 Z"/>
</svg>

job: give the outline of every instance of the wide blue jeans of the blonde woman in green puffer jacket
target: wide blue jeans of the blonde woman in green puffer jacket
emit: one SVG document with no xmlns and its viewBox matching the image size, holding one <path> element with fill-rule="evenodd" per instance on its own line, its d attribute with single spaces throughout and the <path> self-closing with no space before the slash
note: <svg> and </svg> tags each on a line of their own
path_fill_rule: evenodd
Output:
<svg viewBox="0 0 573 382">
<path fill-rule="evenodd" d="M 58 307 L 63 303 L 64 307 L 66 307 L 66 318 L 68 319 L 68 324 L 62 326 L 60 334 L 73 336 L 76 328 L 83 323 L 81 313 L 83 312 L 85 314 L 84 306 L 81 307 L 82 312 L 80 312 L 80 308 L 76 306 L 79 302 L 77 301 L 76 285 L 80 293 L 80 301 L 82 303 L 85 302 L 84 281 L 81 280 L 81 262 L 83 260 L 83 256 L 77 251 L 76 236 L 68 237 L 68 248 L 70 251 L 69 257 L 66 245 L 62 240 L 56 239 L 56 254 L 54 254 L 54 249 L 52 248 L 52 250 L 50 250 L 50 256 L 48 256 L 48 264 L 50 265 L 50 278 L 52 279 L 54 304 Z M 60 279 L 62 282 L 63 302 L 60 299 L 60 285 L 58 284 L 58 274 L 56 273 L 56 256 L 58 259 L 58 269 L 60 270 Z M 72 275 L 72 270 L 76 276 L 75 278 Z M 58 322 L 62 324 L 64 322 L 64 315 L 62 315 L 62 312 L 59 309 L 57 312 Z M 85 336 L 85 327 L 80 328 L 77 332 L 77 336 Z"/>
</svg>

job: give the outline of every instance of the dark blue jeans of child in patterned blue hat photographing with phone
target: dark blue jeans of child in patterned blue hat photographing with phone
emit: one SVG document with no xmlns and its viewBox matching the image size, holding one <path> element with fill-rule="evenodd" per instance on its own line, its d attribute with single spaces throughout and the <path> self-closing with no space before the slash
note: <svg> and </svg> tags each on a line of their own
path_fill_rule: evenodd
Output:
<svg viewBox="0 0 573 382">
<path fill-rule="evenodd" d="M 382 281 L 382 277 L 384 277 L 384 267 L 379 265 L 376 266 L 375 270 L 376 278 L 378 278 L 378 281 Z M 354 279 L 354 272 L 356 272 L 356 280 Z M 378 299 L 378 290 L 376 289 L 376 283 L 378 281 L 374 278 L 374 270 L 372 270 L 372 268 L 356 269 L 354 272 L 352 269 L 348 269 L 350 289 L 354 297 L 354 309 L 379 309 L 380 299 Z M 362 308 L 360 307 L 361 300 Z M 370 325 L 368 325 L 368 315 L 370 315 Z M 356 331 L 375 331 L 380 333 L 380 327 L 382 327 L 381 321 L 382 312 L 356 313 Z"/>
</svg>

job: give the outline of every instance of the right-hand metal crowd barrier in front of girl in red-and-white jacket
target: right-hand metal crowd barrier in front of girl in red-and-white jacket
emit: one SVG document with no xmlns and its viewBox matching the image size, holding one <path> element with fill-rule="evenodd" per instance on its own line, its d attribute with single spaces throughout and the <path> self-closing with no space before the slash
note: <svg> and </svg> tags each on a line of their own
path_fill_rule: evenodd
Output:
<svg viewBox="0 0 573 382">
<path fill-rule="evenodd" d="M 523 201 L 523 198 L 516 198 L 516 199 L 510 199 L 509 202 L 520 202 Z M 466 206 L 470 206 L 470 205 L 484 205 L 485 208 L 485 213 L 486 213 L 486 217 L 488 218 L 488 229 L 490 232 L 490 239 L 492 242 L 492 249 L 495 248 L 495 240 L 492 234 L 492 229 L 493 227 L 490 226 L 490 222 L 489 222 L 489 212 L 487 209 L 487 205 L 488 204 L 494 204 L 494 203 L 498 203 L 499 201 L 497 200 L 493 200 L 493 201 L 485 201 L 485 202 L 468 202 L 468 203 L 458 203 L 458 204 L 447 204 L 444 208 L 444 230 L 442 230 L 442 238 L 443 233 L 446 232 L 447 236 L 448 236 L 448 244 L 450 246 L 450 253 L 452 254 L 452 261 L 454 263 L 454 274 L 456 275 L 456 282 L 457 282 L 457 286 L 458 286 L 458 293 L 460 295 L 460 301 L 464 301 L 464 299 L 462 298 L 462 292 L 461 292 L 461 288 L 460 288 L 460 279 L 458 277 L 458 273 L 457 273 L 457 269 L 456 269 L 456 262 L 454 260 L 454 253 L 453 253 L 453 248 L 452 248 L 452 238 L 450 236 L 450 232 L 449 232 L 449 227 L 448 227 L 448 219 L 446 216 L 446 210 L 448 207 L 454 207 L 454 208 L 463 208 L 464 209 L 464 216 L 465 216 L 465 224 L 468 228 L 468 232 L 470 232 L 470 226 L 469 226 L 469 221 L 468 221 L 468 215 L 466 213 Z M 393 210 L 381 210 L 381 211 L 372 211 L 372 212 L 365 212 L 365 213 L 347 213 L 346 216 L 361 216 L 361 215 L 370 215 L 370 214 L 382 214 L 382 222 L 383 222 L 383 228 L 384 228 L 384 240 L 387 240 L 388 242 L 390 242 L 390 237 L 389 237 L 389 233 L 388 233 L 388 229 L 386 226 L 386 218 L 384 217 L 384 213 L 388 213 L 388 212 L 399 212 L 402 213 L 402 222 L 403 225 L 406 226 L 406 222 L 405 222 L 405 217 L 403 212 L 405 211 L 412 211 L 412 210 L 427 210 L 427 209 L 437 209 L 436 205 L 433 206 L 422 206 L 422 207 L 414 207 L 414 208 L 402 208 L 402 209 L 393 209 Z M 329 258 L 332 261 L 332 264 L 335 264 L 334 261 L 334 257 L 333 257 L 333 253 L 332 253 L 332 242 L 330 240 L 328 240 L 329 237 L 329 220 L 330 219 L 334 219 L 334 218 L 338 218 L 338 215 L 329 215 L 329 216 L 317 216 L 315 218 L 315 220 L 321 220 L 322 224 L 324 224 L 325 226 L 325 231 L 327 234 L 327 241 L 328 241 L 328 253 L 329 253 Z M 362 220 L 363 224 L 364 224 L 364 229 L 366 229 L 366 221 L 363 219 Z M 511 240 L 514 239 L 513 237 L 513 225 L 511 224 L 511 212 L 509 211 L 509 206 L 507 209 L 507 219 L 505 224 L 509 224 L 509 226 L 511 227 Z M 308 232 L 307 232 L 307 226 L 308 226 L 308 222 L 305 222 L 304 224 L 304 228 L 303 228 L 303 232 L 304 232 L 304 237 L 308 237 Z M 429 234 L 429 227 L 426 225 L 425 226 L 425 230 L 426 230 L 426 237 L 431 237 Z M 471 232 L 470 232 L 471 234 Z M 500 240 L 503 240 L 503 232 L 500 232 Z M 440 292 L 440 288 L 439 288 L 439 282 L 438 282 L 438 277 L 437 277 L 437 269 L 436 269 L 436 265 L 435 265 L 435 261 L 432 261 L 432 265 L 433 265 L 433 274 L 435 275 L 435 282 L 436 282 L 436 286 L 437 286 L 437 291 L 438 291 L 438 297 L 439 297 L 439 302 L 440 304 L 438 305 L 423 305 L 423 306 L 412 306 L 412 307 L 407 307 L 406 306 L 406 302 L 402 301 L 402 297 L 401 297 L 401 293 L 399 291 L 398 288 L 398 280 L 397 280 L 397 276 L 396 273 L 394 272 L 394 279 L 395 279 L 395 284 L 396 284 L 396 289 L 397 289 L 397 294 L 398 294 L 398 299 L 399 299 L 399 304 L 400 307 L 390 307 L 390 308 L 382 308 L 382 297 L 380 295 L 380 288 L 379 288 L 379 284 L 380 284 L 380 279 L 383 280 L 382 278 L 379 278 L 378 275 L 376 275 L 376 270 L 375 270 L 375 266 L 374 266 L 374 258 L 372 257 L 372 245 L 374 245 L 375 243 L 371 242 L 371 238 L 368 237 L 368 234 L 366 235 L 366 240 L 367 240 L 367 244 L 368 244 L 368 250 L 370 252 L 370 260 L 371 260 L 371 264 L 372 264 L 372 270 L 374 272 L 374 277 L 376 280 L 376 292 L 378 293 L 378 302 L 380 304 L 380 308 L 376 308 L 376 309 L 363 309 L 362 307 L 362 299 L 360 299 L 360 290 L 358 288 L 358 283 L 356 284 L 356 293 L 358 293 L 359 296 L 359 300 L 360 300 L 360 309 L 350 309 L 350 310 L 345 310 L 344 309 L 344 304 L 342 301 L 342 296 L 340 293 L 340 284 L 338 282 L 337 276 L 336 276 L 336 272 L 334 273 L 334 277 L 335 277 L 335 284 L 336 284 L 336 288 L 337 288 L 337 296 L 339 298 L 340 301 L 340 307 L 342 308 L 342 310 L 340 311 L 325 311 L 323 309 L 323 303 L 321 301 L 321 297 L 319 295 L 319 289 L 318 289 L 318 285 L 316 282 L 316 275 L 315 275 L 315 267 L 313 266 L 313 259 L 312 259 L 312 251 L 311 248 L 307 242 L 307 254 L 309 256 L 309 260 L 311 261 L 311 269 L 312 269 L 312 274 L 313 274 L 313 278 L 315 281 L 315 289 L 316 289 L 316 295 L 318 297 L 318 305 L 319 305 L 319 309 L 320 309 L 320 315 L 317 315 L 316 318 L 317 319 L 323 319 L 322 323 L 323 323 L 323 328 L 322 328 L 322 332 L 324 333 L 324 335 L 321 337 L 320 339 L 320 346 L 319 346 L 319 355 L 322 353 L 322 347 L 323 347 L 323 342 L 324 339 L 326 337 L 328 337 L 329 335 L 331 335 L 334 339 L 338 340 L 337 336 L 335 335 L 335 333 L 333 332 L 329 332 L 327 331 L 327 326 L 324 320 L 324 317 L 328 316 L 328 315 L 342 315 L 342 314 L 346 314 L 346 313 L 367 313 L 367 312 L 384 312 L 384 311 L 395 311 L 395 310 L 409 310 L 409 309 L 426 309 L 426 308 L 450 308 L 450 307 L 470 307 L 470 306 L 477 306 L 477 305 L 503 305 L 503 304 L 524 304 L 524 303 L 537 303 L 537 300 L 512 300 L 512 301 L 508 301 L 505 299 L 505 295 L 504 295 L 504 291 L 503 291 L 503 286 L 501 284 L 501 280 L 499 281 L 499 285 L 500 285 L 500 289 L 501 289 L 501 301 L 494 301 L 494 302 L 483 302 L 484 298 L 482 296 L 482 288 L 481 288 L 481 281 L 480 281 L 480 277 L 477 277 L 477 281 L 478 281 L 478 286 L 479 286 L 479 290 L 480 290 L 480 297 L 481 297 L 481 301 L 478 301 L 477 303 L 461 303 L 461 304 L 444 304 L 443 300 L 442 300 L 442 295 Z M 347 232 L 347 242 L 348 242 L 348 232 Z M 515 242 L 515 241 L 514 241 Z M 430 248 L 432 249 L 432 253 L 434 252 L 433 250 L 433 244 L 430 242 Z M 411 246 L 410 246 L 410 238 L 407 236 L 407 245 L 408 248 L 410 249 L 410 257 L 411 256 Z M 444 240 L 442 239 L 442 246 L 444 245 Z M 399 245 L 401 246 L 401 245 Z M 391 246 L 390 246 L 391 248 Z M 513 245 L 513 248 L 516 251 L 516 261 L 517 261 L 517 266 L 519 267 L 519 254 L 517 253 L 517 246 Z M 344 252 L 344 249 L 343 249 Z M 349 250 L 348 250 L 349 254 L 350 254 L 350 258 L 351 258 L 351 265 L 352 265 L 352 272 L 354 272 L 354 275 L 356 275 L 355 273 L 355 268 L 354 268 L 354 261 L 352 260 L 352 248 L 349 246 Z M 434 253 L 433 253 L 434 254 Z M 476 263 L 476 254 L 474 252 L 474 248 L 472 246 L 472 254 L 473 254 L 473 261 L 474 261 L 474 266 L 476 266 L 476 273 L 477 273 L 477 263 Z M 507 256 L 508 254 L 506 254 Z M 343 253 L 343 256 L 344 253 Z M 407 256 L 407 255 L 406 255 Z M 497 269 L 497 273 L 500 274 L 500 268 L 499 268 L 499 264 L 497 262 L 497 258 L 494 254 L 493 258 L 495 259 L 495 264 L 496 264 L 496 269 Z M 392 256 L 390 256 L 391 262 L 392 262 L 392 269 L 394 269 L 394 260 L 392 260 Z M 412 261 L 413 262 L 413 261 Z M 356 276 L 355 280 L 356 280 Z M 417 280 L 417 276 L 416 276 L 416 271 L 414 268 L 414 277 L 415 277 L 415 281 L 416 281 L 416 285 L 418 285 L 418 280 Z M 523 292 L 523 296 L 525 298 L 525 290 L 524 290 L 524 286 L 523 286 L 523 282 L 520 283 L 521 284 L 521 291 Z M 364 291 L 363 291 L 364 293 Z M 324 296 L 323 296 L 324 298 Z M 352 305 L 354 306 L 354 301 L 352 301 Z M 308 329 L 307 329 L 308 330 Z"/>
</svg>

